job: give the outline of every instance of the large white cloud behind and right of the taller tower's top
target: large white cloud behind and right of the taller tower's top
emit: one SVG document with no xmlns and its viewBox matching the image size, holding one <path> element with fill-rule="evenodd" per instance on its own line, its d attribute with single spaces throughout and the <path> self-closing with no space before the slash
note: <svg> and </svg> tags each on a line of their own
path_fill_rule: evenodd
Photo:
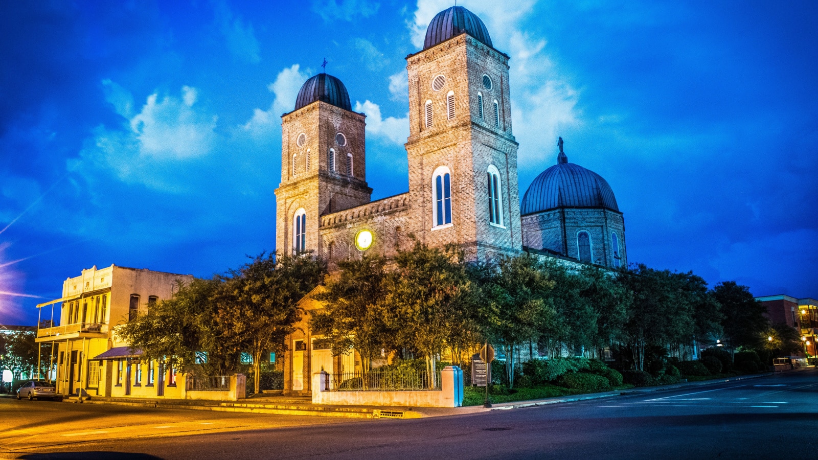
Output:
<svg viewBox="0 0 818 460">
<path fill-rule="evenodd" d="M 582 123 L 578 91 L 560 75 L 547 55 L 546 40 L 525 32 L 534 4 L 534 0 L 471 0 L 465 5 L 485 22 L 493 46 L 510 56 L 511 115 L 521 170 L 542 169 L 543 153 L 555 151 L 557 136 Z M 416 47 L 423 46 L 432 18 L 451 6 L 447 0 L 417 2 L 408 24 Z"/>
</svg>

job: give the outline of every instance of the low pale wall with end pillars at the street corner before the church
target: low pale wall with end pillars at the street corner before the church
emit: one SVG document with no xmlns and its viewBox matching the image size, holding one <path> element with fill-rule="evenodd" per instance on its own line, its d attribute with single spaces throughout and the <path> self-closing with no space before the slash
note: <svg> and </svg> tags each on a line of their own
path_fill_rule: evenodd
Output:
<svg viewBox="0 0 818 460">
<path fill-rule="evenodd" d="M 463 405 L 463 371 L 447 366 L 440 373 L 441 390 L 326 390 L 326 372 L 312 374 L 312 404 L 459 408 Z"/>
</svg>

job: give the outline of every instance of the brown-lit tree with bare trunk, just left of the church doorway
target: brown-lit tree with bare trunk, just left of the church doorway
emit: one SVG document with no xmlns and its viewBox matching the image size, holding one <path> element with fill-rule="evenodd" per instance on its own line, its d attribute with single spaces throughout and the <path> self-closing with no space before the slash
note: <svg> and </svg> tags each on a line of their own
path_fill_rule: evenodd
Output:
<svg viewBox="0 0 818 460">
<path fill-rule="evenodd" d="M 326 269 L 310 255 L 256 256 L 223 277 L 213 302 L 219 340 L 236 353 L 253 356 L 258 392 L 262 355 L 285 350 L 285 337 L 301 318 L 298 302 L 324 277 Z"/>
</svg>

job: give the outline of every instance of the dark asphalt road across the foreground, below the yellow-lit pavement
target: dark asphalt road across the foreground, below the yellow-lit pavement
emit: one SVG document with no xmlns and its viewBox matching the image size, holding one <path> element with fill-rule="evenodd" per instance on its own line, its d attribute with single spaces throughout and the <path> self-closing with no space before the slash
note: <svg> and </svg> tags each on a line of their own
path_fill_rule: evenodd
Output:
<svg viewBox="0 0 818 460">
<path fill-rule="evenodd" d="M 19 458 L 812 459 L 818 456 L 816 391 L 818 372 L 807 370 L 452 417 L 313 419 L 312 426 L 101 440 Z"/>
</svg>

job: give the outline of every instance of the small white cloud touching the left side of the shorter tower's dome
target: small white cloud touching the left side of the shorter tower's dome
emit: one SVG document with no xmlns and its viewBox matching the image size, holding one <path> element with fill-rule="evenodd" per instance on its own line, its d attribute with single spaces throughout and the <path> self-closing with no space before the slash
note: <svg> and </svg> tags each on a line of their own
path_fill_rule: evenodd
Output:
<svg viewBox="0 0 818 460">
<path fill-rule="evenodd" d="M 254 138 L 271 136 L 276 127 L 281 125 L 281 114 L 295 108 L 295 98 L 298 97 L 299 89 L 308 78 L 309 75 L 302 72 L 298 64 L 282 69 L 276 75 L 276 80 L 267 85 L 267 89 L 274 96 L 270 108 L 267 110 L 254 109 L 253 116 L 242 128 Z"/>
</svg>

